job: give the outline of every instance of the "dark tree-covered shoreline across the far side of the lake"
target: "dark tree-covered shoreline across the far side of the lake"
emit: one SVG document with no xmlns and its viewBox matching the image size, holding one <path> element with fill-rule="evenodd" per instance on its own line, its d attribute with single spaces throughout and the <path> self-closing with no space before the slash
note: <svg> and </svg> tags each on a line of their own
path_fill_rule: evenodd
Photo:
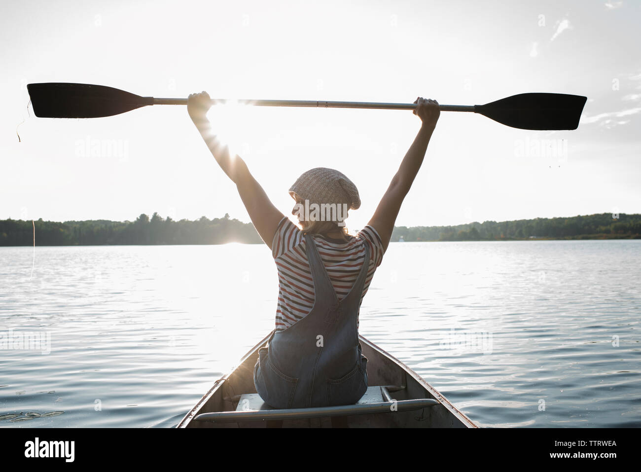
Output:
<svg viewBox="0 0 641 472">
<path fill-rule="evenodd" d="M 0 221 L 0 246 L 102 246 L 137 244 L 262 243 L 253 224 L 201 217 L 174 221 L 154 213 L 135 221 Z M 394 226 L 392 241 L 492 241 L 540 239 L 641 239 L 640 214 L 603 213 L 457 226 Z"/>
</svg>

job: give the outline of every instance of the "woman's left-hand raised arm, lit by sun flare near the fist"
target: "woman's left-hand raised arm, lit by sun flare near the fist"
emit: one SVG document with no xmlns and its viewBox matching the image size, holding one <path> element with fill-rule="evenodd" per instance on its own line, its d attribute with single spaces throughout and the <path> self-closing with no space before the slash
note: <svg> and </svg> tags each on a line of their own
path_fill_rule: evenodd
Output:
<svg viewBox="0 0 641 472">
<path fill-rule="evenodd" d="M 254 176 L 249 173 L 245 161 L 238 155 L 231 156 L 229 154 L 229 146 L 222 144 L 213 133 L 212 125 L 206 116 L 210 106 L 211 100 L 207 92 L 191 94 L 187 101 L 189 116 L 201 133 L 216 162 L 236 184 L 240 199 L 242 199 L 242 203 L 245 205 L 247 213 L 249 213 L 254 228 L 271 249 L 278 223 L 285 215 L 274 207 L 267 194 L 265 194 L 265 190 L 254 179 Z"/>
</svg>

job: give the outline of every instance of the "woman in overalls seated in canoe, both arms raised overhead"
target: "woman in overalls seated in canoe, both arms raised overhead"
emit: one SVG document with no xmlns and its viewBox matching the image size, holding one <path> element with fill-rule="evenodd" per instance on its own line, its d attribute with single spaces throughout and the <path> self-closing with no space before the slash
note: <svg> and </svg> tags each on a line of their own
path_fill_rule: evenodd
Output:
<svg viewBox="0 0 641 472">
<path fill-rule="evenodd" d="M 290 188 L 303 230 L 272 205 L 239 156 L 230 156 L 206 118 L 210 97 L 191 94 L 192 121 L 224 173 L 236 184 L 249 217 L 272 249 L 279 276 L 276 328 L 258 351 L 254 384 L 276 408 L 356 403 L 367 390 L 367 358 L 358 342 L 358 312 L 392 237 L 401 203 L 425 156 L 440 110 L 418 97 L 413 111 L 422 124 L 369 223 L 356 236 L 344 228 L 346 213 L 360 207 L 354 183 L 317 167 Z M 313 208 L 311 208 L 313 207 Z M 334 207 L 332 211 L 318 211 Z"/>
</svg>

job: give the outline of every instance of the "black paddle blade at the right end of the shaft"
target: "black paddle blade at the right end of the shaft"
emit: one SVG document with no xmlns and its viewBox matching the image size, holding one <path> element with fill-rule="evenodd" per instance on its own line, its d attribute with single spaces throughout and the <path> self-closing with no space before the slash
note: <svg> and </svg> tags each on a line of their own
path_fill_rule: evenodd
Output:
<svg viewBox="0 0 641 472">
<path fill-rule="evenodd" d="M 587 97 L 519 94 L 474 105 L 474 112 L 521 130 L 576 130 Z"/>
</svg>

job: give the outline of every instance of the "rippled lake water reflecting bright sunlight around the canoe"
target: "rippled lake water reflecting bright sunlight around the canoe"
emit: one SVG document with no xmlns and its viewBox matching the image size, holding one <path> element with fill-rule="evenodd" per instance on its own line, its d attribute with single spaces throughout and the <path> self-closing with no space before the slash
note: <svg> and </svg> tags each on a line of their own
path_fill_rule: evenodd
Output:
<svg viewBox="0 0 641 472">
<path fill-rule="evenodd" d="M 360 333 L 479 426 L 639 427 L 640 267 L 641 240 L 392 243 Z M 0 427 L 175 426 L 277 293 L 264 245 L 0 248 Z"/>
</svg>

